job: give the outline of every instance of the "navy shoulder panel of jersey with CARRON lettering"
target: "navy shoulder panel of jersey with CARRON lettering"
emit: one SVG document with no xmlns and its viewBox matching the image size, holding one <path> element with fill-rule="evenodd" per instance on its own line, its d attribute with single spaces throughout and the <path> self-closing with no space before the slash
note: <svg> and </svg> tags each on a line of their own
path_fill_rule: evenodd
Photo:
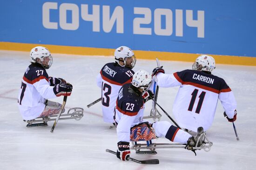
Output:
<svg viewBox="0 0 256 170">
<path fill-rule="evenodd" d="M 229 88 L 222 78 L 199 70 L 186 69 L 176 72 L 176 75 L 181 79 L 182 84 L 189 84 L 191 82 L 216 90 Z"/>
</svg>

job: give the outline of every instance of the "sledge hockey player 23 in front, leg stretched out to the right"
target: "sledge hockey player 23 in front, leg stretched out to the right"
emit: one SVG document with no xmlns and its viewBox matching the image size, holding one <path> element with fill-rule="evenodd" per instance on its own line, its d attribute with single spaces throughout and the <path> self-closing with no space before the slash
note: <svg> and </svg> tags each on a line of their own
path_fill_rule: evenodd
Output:
<svg viewBox="0 0 256 170">
<path fill-rule="evenodd" d="M 202 145 L 202 127 L 198 128 L 198 134 L 192 137 L 189 133 L 171 125 L 168 121 L 157 121 L 153 124 L 143 121 L 144 101 L 152 93 L 148 93 L 151 85 L 151 75 L 144 70 L 138 70 L 133 75 L 132 83 L 121 87 L 115 106 L 114 119 L 117 125 L 118 136 L 117 157 L 122 161 L 128 160 L 130 155 L 129 142 L 150 140 L 156 137 L 165 137 L 172 142 L 195 146 Z"/>
</svg>

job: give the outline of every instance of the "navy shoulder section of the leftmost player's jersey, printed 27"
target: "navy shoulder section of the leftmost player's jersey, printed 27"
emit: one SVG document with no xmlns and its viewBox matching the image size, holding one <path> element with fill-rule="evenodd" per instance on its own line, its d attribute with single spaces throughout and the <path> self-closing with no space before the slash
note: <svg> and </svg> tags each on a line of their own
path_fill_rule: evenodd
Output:
<svg viewBox="0 0 256 170">
<path fill-rule="evenodd" d="M 33 64 L 29 65 L 24 73 L 24 77 L 29 81 L 33 81 L 40 76 L 44 76 L 47 80 L 49 79 L 45 68 Z"/>
</svg>

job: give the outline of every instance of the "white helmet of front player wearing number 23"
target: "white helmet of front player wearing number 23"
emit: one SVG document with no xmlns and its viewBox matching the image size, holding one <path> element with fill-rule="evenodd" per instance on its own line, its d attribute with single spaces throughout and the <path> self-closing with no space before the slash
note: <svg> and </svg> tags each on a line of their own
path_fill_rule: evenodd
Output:
<svg viewBox="0 0 256 170">
<path fill-rule="evenodd" d="M 140 69 L 133 75 L 132 85 L 136 88 L 142 88 L 147 91 L 150 88 L 152 76 L 145 70 Z"/>
</svg>

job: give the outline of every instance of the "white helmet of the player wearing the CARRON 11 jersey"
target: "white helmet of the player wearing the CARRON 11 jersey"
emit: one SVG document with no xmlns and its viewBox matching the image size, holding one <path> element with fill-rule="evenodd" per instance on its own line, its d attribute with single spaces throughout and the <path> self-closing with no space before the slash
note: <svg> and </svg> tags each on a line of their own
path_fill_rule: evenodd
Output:
<svg viewBox="0 0 256 170">
<path fill-rule="evenodd" d="M 192 69 L 212 72 L 215 69 L 215 59 L 207 55 L 199 56 L 192 65 Z"/>
</svg>

